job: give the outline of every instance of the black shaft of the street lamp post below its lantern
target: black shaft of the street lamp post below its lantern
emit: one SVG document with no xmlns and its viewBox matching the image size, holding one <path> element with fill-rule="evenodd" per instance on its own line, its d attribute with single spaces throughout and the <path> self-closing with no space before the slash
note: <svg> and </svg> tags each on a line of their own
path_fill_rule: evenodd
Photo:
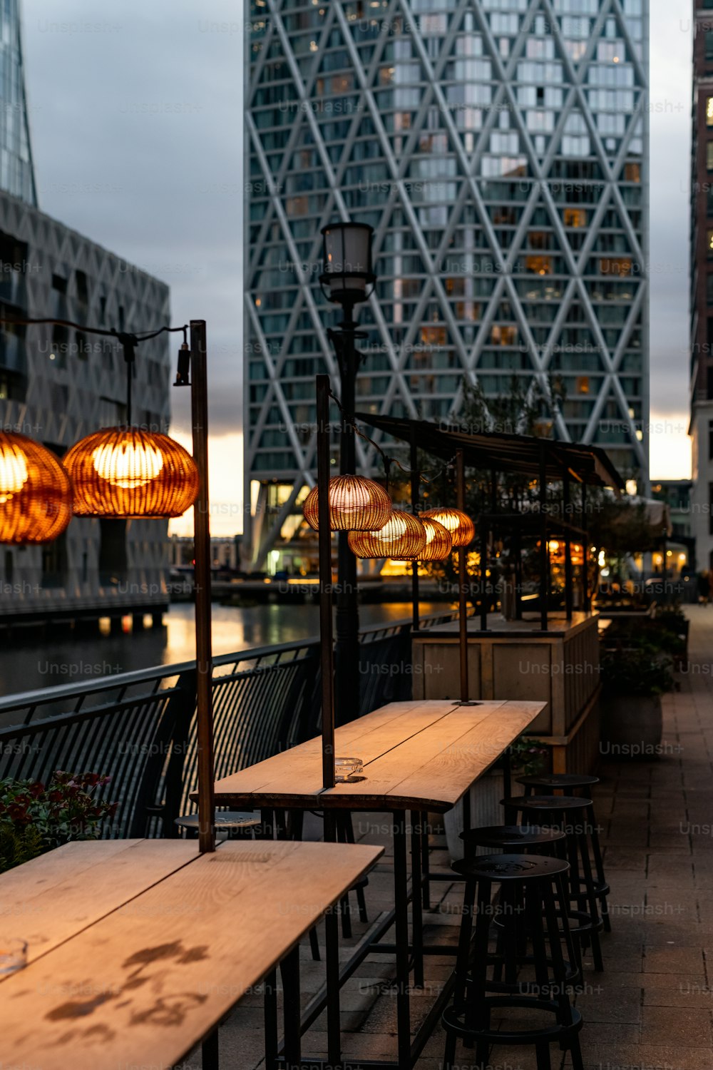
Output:
<svg viewBox="0 0 713 1070">
<path fill-rule="evenodd" d="M 353 428 L 356 409 L 356 376 L 358 358 L 355 347 L 354 309 L 344 305 L 344 320 L 339 333 L 331 332 L 339 358 L 341 379 L 342 428 L 339 447 L 341 475 L 354 475 L 356 443 Z M 348 532 L 339 532 L 337 556 L 337 667 L 336 690 L 339 723 L 345 724 L 359 716 L 359 607 L 357 602 L 357 562 L 348 548 Z"/>
</svg>

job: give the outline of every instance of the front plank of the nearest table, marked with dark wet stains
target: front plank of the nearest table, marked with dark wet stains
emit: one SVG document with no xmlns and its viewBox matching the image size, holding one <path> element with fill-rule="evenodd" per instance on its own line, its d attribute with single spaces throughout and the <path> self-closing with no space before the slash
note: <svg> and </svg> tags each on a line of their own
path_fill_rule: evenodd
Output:
<svg viewBox="0 0 713 1070">
<path fill-rule="evenodd" d="M 157 854 L 170 845 L 151 842 Z M 381 854 L 361 844 L 233 841 L 195 855 L 4 981 L 0 1064 L 168 1070 Z"/>
</svg>

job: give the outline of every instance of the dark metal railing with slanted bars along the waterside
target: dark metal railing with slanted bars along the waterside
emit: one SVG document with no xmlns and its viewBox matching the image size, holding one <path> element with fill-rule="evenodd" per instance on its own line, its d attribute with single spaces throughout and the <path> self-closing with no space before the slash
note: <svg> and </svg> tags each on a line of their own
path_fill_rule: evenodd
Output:
<svg viewBox="0 0 713 1070">
<path fill-rule="evenodd" d="M 421 617 L 421 628 L 451 621 Z M 412 693 L 410 622 L 360 633 L 360 714 Z M 196 662 L 159 666 L 0 700 L 0 780 L 46 782 L 56 769 L 111 777 L 119 804 L 107 837 L 175 835 L 193 810 Z M 319 731 L 320 641 L 262 646 L 214 659 L 216 777 L 269 758 Z"/>
</svg>

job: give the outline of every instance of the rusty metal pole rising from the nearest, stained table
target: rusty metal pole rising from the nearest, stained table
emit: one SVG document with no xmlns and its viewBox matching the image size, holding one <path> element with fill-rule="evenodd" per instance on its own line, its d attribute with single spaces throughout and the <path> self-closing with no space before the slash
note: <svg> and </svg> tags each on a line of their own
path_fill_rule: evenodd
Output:
<svg viewBox="0 0 713 1070">
<path fill-rule="evenodd" d="M 211 524 L 208 517 L 208 391 L 205 320 L 190 321 L 190 411 L 200 487 L 193 505 L 196 559 L 196 709 L 198 849 L 215 851 L 213 786 L 213 648 L 211 639 Z"/>
</svg>

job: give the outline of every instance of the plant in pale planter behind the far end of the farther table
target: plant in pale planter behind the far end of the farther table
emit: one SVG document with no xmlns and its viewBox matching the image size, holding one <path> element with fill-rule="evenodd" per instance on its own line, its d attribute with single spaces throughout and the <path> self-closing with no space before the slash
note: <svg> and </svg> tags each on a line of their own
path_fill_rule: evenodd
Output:
<svg viewBox="0 0 713 1070">
<path fill-rule="evenodd" d="M 515 777 L 542 773 L 546 767 L 549 748 L 532 736 L 522 735 L 508 747 L 510 771 L 512 774 L 511 793 L 524 794 L 525 789 L 518 784 Z M 499 759 L 487 773 L 480 777 L 470 789 L 470 827 L 486 825 L 502 825 L 505 814 L 500 799 L 505 797 L 503 761 Z M 463 858 L 463 808 L 461 804 L 449 810 L 444 816 L 448 851 L 452 861 Z"/>
</svg>

